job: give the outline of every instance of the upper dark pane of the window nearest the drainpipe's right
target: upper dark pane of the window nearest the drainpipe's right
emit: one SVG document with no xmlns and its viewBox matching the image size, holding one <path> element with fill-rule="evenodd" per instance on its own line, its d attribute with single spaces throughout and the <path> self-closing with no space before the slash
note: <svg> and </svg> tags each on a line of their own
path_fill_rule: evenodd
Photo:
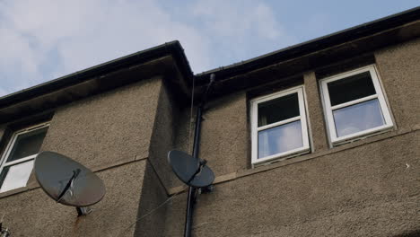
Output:
<svg viewBox="0 0 420 237">
<path fill-rule="evenodd" d="M 258 104 L 258 127 L 299 116 L 298 94 L 293 93 Z"/>
</svg>

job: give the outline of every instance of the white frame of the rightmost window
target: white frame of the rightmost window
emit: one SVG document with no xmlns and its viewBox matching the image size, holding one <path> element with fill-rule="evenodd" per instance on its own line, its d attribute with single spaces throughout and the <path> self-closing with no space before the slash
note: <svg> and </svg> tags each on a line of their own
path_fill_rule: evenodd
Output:
<svg viewBox="0 0 420 237">
<path fill-rule="evenodd" d="M 358 75 L 358 74 L 362 74 L 364 72 L 369 72 L 372 78 L 372 83 L 373 83 L 373 87 L 375 89 L 376 94 L 373 95 L 369 95 L 354 101 L 348 101 L 345 103 L 341 103 L 341 104 L 337 104 L 335 106 L 331 106 L 331 101 L 329 98 L 329 92 L 328 92 L 328 83 L 337 81 L 337 80 L 341 80 L 341 79 L 345 79 L 349 76 L 352 75 Z M 382 86 L 381 86 L 381 80 L 380 77 L 377 73 L 377 69 L 376 66 L 374 65 L 370 65 L 370 66 L 363 66 L 361 68 L 357 68 L 354 69 L 352 71 L 348 71 L 346 73 L 343 74 L 339 74 L 339 75 L 333 75 L 333 76 L 329 76 L 327 78 L 324 78 L 322 80 L 319 81 L 320 83 L 320 91 L 321 91 L 321 95 L 322 95 L 322 102 L 323 102 L 323 107 L 324 107 L 324 114 L 325 114 L 325 118 L 327 120 L 327 128 L 328 128 L 328 136 L 330 139 L 330 146 L 333 145 L 340 145 L 340 144 L 344 144 L 347 142 L 352 142 L 354 140 L 363 138 L 365 136 L 372 136 L 374 134 L 378 134 L 381 132 L 384 132 L 386 130 L 389 130 L 389 128 L 394 126 L 394 123 L 392 122 L 392 118 L 389 112 L 389 107 L 388 104 L 385 100 L 385 96 L 383 94 L 383 90 L 382 90 Z M 380 107 L 381 107 L 381 112 L 382 112 L 382 116 L 384 119 L 384 124 L 380 127 L 373 127 L 370 129 L 366 129 L 360 132 L 356 132 L 354 134 L 349 134 L 346 136 L 340 136 L 337 137 L 337 130 L 336 130 L 336 124 L 334 122 L 334 117 L 333 117 L 333 110 L 338 110 L 341 108 L 345 108 L 347 106 L 351 106 L 357 103 L 361 103 L 363 101 L 371 101 L 373 99 L 378 99 L 379 103 L 380 103 Z"/>
</svg>

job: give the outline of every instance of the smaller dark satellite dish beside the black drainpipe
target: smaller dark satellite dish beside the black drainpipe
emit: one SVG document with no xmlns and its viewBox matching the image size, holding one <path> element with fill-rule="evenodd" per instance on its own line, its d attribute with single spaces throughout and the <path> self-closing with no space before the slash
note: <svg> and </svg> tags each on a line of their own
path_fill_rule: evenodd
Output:
<svg viewBox="0 0 420 237">
<path fill-rule="evenodd" d="M 205 188 L 214 181 L 214 172 L 206 166 L 206 160 L 173 150 L 168 153 L 168 162 L 179 180 L 188 186 Z"/>
</svg>

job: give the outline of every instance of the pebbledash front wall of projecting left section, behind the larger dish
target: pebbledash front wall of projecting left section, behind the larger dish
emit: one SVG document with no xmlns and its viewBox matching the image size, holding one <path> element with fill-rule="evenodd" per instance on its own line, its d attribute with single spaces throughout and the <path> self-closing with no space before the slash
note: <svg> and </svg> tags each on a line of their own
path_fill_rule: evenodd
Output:
<svg viewBox="0 0 420 237">
<path fill-rule="evenodd" d="M 48 198 L 32 174 L 26 188 L 0 198 L 3 226 L 12 236 L 133 236 L 137 215 L 166 199 L 147 162 L 161 91 L 157 76 L 57 108 L 41 150 L 65 154 L 95 171 L 106 195 L 90 215 L 77 217 L 74 207 Z M 153 232 L 162 235 L 163 229 Z"/>
</svg>

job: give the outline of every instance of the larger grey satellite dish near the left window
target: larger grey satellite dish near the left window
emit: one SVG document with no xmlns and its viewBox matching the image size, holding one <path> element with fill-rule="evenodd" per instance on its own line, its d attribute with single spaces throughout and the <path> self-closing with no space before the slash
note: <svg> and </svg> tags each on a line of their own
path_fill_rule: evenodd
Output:
<svg viewBox="0 0 420 237">
<path fill-rule="evenodd" d="M 66 206 L 76 206 L 78 212 L 80 207 L 91 206 L 105 195 L 105 186 L 95 173 L 62 154 L 38 154 L 35 176 L 50 198 Z"/>
</svg>

